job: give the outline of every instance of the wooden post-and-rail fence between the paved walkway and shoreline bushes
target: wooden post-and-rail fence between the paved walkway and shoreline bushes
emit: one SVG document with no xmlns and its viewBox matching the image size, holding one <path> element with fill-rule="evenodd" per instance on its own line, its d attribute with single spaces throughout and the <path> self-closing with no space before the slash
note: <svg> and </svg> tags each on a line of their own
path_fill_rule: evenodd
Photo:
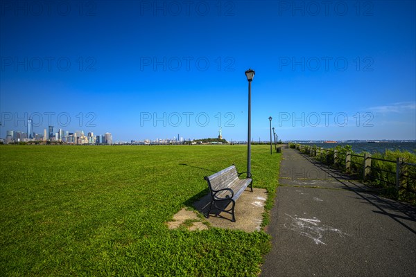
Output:
<svg viewBox="0 0 416 277">
<path fill-rule="evenodd" d="M 345 167 L 343 169 L 347 172 L 351 172 L 352 166 L 355 166 L 355 168 L 361 172 L 361 177 L 363 178 L 363 180 L 383 181 L 386 184 L 395 186 L 397 190 L 399 190 L 400 188 L 409 190 L 408 186 L 406 187 L 403 186 L 403 184 L 405 183 L 405 180 L 406 179 L 416 180 L 416 176 L 406 174 L 406 168 L 405 168 L 405 166 L 411 166 L 411 167 L 416 168 L 416 163 L 406 163 L 401 158 L 397 158 L 396 161 L 391 161 L 387 159 L 371 157 L 371 154 L 368 154 L 368 153 L 360 155 L 360 154 L 353 154 L 352 152 L 347 151 L 345 153 L 345 160 L 342 161 L 340 158 L 340 153 L 338 153 L 338 150 L 336 149 L 324 149 L 324 148 L 317 148 L 317 147 L 313 147 L 310 145 L 301 145 L 301 144 L 296 144 L 295 148 L 297 150 L 300 150 L 301 152 L 309 154 L 311 157 L 315 157 L 315 158 L 325 161 L 326 163 L 330 163 L 333 166 L 340 166 L 343 164 L 343 162 L 345 162 Z M 352 157 L 358 158 L 358 160 L 360 161 L 356 161 L 357 159 L 355 159 L 354 161 Z M 390 170 L 385 170 L 383 168 L 379 168 L 375 165 L 374 161 L 381 161 L 382 163 L 395 163 L 396 164 L 395 171 L 390 171 Z M 375 172 L 376 170 L 395 176 L 394 177 L 395 182 L 393 183 L 392 181 L 389 181 L 388 179 L 381 179 L 379 177 L 372 175 L 371 173 Z M 415 190 L 409 190 L 409 191 L 416 193 Z"/>
</svg>

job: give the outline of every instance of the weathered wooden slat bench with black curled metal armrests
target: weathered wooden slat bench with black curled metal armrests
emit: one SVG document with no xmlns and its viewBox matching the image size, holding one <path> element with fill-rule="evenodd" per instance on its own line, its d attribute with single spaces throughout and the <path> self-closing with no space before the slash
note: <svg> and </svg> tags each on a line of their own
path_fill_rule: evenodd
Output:
<svg viewBox="0 0 416 277">
<path fill-rule="evenodd" d="M 247 173 L 246 179 L 240 179 L 240 175 L 243 173 Z M 248 186 L 253 191 L 251 173 L 239 173 L 236 166 L 232 165 L 211 176 L 205 176 L 204 179 L 207 180 L 209 192 L 211 193 L 211 203 L 209 204 L 209 211 L 205 213 L 205 217 L 209 217 L 209 213 L 214 208 L 229 213 L 232 215 L 232 222 L 236 222 L 236 217 L 234 216 L 236 200 Z M 231 207 L 227 209 L 230 203 Z"/>
</svg>

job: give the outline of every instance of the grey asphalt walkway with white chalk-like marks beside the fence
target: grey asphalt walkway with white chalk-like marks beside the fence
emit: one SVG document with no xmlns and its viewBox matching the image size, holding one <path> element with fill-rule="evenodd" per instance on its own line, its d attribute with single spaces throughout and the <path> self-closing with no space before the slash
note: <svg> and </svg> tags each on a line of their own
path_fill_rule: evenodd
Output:
<svg viewBox="0 0 416 277">
<path fill-rule="evenodd" d="M 284 148 L 261 276 L 415 276 L 416 208 Z"/>
</svg>

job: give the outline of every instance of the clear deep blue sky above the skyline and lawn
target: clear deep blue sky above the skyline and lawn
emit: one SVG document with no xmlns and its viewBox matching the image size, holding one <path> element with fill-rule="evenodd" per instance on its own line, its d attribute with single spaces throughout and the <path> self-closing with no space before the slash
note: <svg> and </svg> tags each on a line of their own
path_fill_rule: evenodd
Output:
<svg viewBox="0 0 416 277">
<path fill-rule="evenodd" d="M 0 137 L 416 139 L 415 1 L 0 3 Z"/>
</svg>

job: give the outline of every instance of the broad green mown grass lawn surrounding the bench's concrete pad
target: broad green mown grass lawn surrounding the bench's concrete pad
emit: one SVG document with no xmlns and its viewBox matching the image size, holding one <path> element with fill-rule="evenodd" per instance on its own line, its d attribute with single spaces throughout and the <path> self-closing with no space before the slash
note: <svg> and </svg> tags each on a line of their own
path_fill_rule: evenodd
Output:
<svg viewBox="0 0 416 277">
<path fill-rule="evenodd" d="M 252 146 L 253 184 L 268 190 L 266 208 L 280 162 L 269 151 Z M 0 145 L 0 272 L 256 276 L 270 248 L 263 231 L 165 224 L 208 193 L 205 175 L 232 163 L 245 171 L 246 155 L 245 145 Z"/>
</svg>

